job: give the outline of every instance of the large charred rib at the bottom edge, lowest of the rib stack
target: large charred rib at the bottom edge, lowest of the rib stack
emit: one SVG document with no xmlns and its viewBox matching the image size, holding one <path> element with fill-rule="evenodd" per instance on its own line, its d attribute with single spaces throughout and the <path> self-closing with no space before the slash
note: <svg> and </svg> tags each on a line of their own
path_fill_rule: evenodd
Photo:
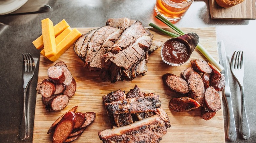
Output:
<svg viewBox="0 0 256 143">
<path fill-rule="evenodd" d="M 134 122 L 115 129 L 99 131 L 99 138 L 104 142 L 143 142 L 151 143 L 167 133 L 165 122 L 159 115 Z"/>
</svg>

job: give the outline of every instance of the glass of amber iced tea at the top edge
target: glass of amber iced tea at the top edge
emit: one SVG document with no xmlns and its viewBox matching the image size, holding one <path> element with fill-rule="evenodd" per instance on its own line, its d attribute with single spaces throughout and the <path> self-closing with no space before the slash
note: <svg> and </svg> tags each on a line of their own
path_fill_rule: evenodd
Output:
<svg viewBox="0 0 256 143">
<path fill-rule="evenodd" d="M 156 13 L 171 22 L 178 22 L 194 0 L 157 0 Z"/>
</svg>

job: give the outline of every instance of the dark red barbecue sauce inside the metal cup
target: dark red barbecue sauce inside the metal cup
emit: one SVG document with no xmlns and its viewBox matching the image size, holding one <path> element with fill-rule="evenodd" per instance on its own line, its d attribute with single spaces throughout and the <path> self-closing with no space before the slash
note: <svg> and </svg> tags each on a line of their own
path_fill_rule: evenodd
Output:
<svg viewBox="0 0 256 143">
<path fill-rule="evenodd" d="M 189 57 L 186 45 L 176 40 L 169 40 L 163 45 L 162 56 L 174 65 L 186 62 Z"/>
</svg>

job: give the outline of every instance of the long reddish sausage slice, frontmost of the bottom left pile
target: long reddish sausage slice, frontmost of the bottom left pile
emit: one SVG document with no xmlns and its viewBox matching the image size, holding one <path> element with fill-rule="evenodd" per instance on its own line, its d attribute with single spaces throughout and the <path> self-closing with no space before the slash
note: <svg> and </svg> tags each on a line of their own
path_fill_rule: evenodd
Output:
<svg viewBox="0 0 256 143">
<path fill-rule="evenodd" d="M 53 143 L 63 143 L 75 126 L 75 114 L 68 112 L 58 123 L 53 133 Z"/>
</svg>

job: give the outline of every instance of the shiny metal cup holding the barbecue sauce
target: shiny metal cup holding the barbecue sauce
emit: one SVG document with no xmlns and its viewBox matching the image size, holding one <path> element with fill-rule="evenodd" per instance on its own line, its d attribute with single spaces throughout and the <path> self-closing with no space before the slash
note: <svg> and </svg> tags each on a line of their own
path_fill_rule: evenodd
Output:
<svg viewBox="0 0 256 143">
<path fill-rule="evenodd" d="M 186 46 L 188 56 L 185 61 L 179 62 L 179 63 L 171 63 L 165 59 L 167 53 L 164 53 L 163 50 L 164 50 L 164 48 L 170 48 L 170 47 L 166 46 L 167 43 L 169 43 L 170 41 L 179 41 Z M 190 56 L 191 56 L 192 52 L 194 51 L 194 49 L 196 48 L 198 42 L 199 42 L 199 36 L 196 33 L 188 33 L 188 34 L 184 34 L 182 36 L 176 37 L 176 38 L 168 39 L 167 41 L 165 41 L 165 43 L 163 44 L 163 46 L 161 48 L 161 57 L 162 57 L 163 62 L 165 62 L 166 64 L 171 65 L 171 66 L 180 66 L 180 65 L 184 64 L 190 58 Z"/>
</svg>

